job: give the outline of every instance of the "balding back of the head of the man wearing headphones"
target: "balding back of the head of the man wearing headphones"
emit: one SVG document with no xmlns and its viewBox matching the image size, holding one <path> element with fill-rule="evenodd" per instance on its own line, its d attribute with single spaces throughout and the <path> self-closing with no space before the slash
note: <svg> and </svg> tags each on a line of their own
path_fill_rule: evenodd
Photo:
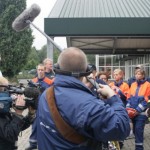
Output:
<svg viewBox="0 0 150 150">
<path fill-rule="evenodd" d="M 69 47 L 62 51 L 57 63 L 60 69 L 70 72 L 85 72 L 87 69 L 87 57 L 85 53 L 75 47 Z"/>
</svg>

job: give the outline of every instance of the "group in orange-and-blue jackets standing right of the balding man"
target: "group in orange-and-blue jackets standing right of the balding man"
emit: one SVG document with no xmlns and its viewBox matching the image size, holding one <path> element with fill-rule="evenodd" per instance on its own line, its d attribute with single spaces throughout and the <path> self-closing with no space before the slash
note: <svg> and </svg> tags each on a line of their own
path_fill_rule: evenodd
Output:
<svg viewBox="0 0 150 150">
<path fill-rule="evenodd" d="M 146 76 L 142 65 L 135 67 L 134 76 L 128 79 L 127 82 L 123 80 L 124 72 L 121 69 L 115 69 L 112 76 L 114 81 L 109 81 L 107 72 L 102 71 L 97 75 L 99 79 L 105 81 L 121 98 L 130 117 L 130 135 L 134 134 L 135 136 L 136 150 L 142 150 L 144 127 L 149 117 L 149 114 L 145 113 L 145 111 L 147 110 L 150 98 L 150 78 Z M 119 143 L 122 148 L 123 141 Z"/>
</svg>

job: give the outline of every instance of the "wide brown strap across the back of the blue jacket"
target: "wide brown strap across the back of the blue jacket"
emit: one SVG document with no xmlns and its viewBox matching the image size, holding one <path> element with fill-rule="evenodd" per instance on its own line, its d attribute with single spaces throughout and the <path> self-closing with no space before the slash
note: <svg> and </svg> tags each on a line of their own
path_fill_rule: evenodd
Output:
<svg viewBox="0 0 150 150">
<path fill-rule="evenodd" d="M 54 86 L 50 87 L 46 91 L 47 103 L 49 106 L 49 110 L 52 115 L 52 119 L 57 127 L 57 130 L 60 134 L 68 141 L 81 144 L 88 139 L 81 134 L 79 134 L 73 127 L 71 127 L 60 115 L 56 102 L 55 102 L 55 95 L 54 95 Z"/>
</svg>

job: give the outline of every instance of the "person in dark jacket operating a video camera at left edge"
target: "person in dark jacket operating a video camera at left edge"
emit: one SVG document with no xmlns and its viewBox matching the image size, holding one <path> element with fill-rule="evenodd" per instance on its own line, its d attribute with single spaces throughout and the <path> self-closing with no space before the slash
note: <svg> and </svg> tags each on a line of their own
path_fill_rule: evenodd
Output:
<svg viewBox="0 0 150 150">
<path fill-rule="evenodd" d="M 2 87 L 8 85 L 8 80 L 0 77 L 0 85 L 0 150 L 14 150 L 17 149 L 15 142 L 18 140 L 19 133 L 28 128 L 34 120 L 35 110 L 30 106 L 25 117 L 22 115 L 24 110 L 17 107 L 11 112 L 12 97 L 8 91 L 5 91 L 5 87 Z M 15 105 L 24 106 L 23 95 L 17 96 L 15 102 Z"/>
</svg>

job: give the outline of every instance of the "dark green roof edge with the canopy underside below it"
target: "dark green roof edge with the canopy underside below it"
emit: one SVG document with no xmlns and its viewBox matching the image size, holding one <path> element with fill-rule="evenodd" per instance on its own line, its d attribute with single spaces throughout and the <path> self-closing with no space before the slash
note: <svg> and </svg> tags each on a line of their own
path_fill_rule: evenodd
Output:
<svg viewBox="0 0 150 150">
<path fill-rule="evenodd" d="M 150 18 L 45 18 L 52 37 L 66 36 L 67 46 L 87 54 L 150 53 Z"/>
</svg>

